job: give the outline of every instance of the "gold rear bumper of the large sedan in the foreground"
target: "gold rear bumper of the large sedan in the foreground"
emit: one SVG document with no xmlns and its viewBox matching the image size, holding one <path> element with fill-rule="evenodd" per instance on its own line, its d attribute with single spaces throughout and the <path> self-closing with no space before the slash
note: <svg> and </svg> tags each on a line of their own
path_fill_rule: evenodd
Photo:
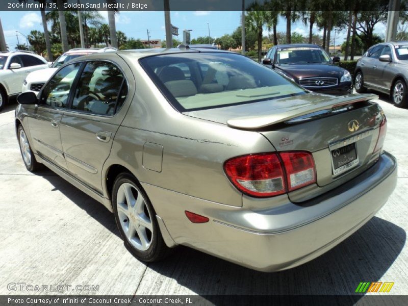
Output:
<svg viewBox="0 0 408 306">
<path fill-rule="evenodd" d="M 251 269 L 278 271 L 320 256 L 357 231 L 386 203 L 396 181 L 396 160 L 384 153 L 355 179 L 302 206 L 287 201 L 254 211 L 171 191 L 155 199 L 157 187 L 144 187 L 175 243 Z M 182 218 L 184 210 L 211 221 L 193 224 Z"/>
</svg>

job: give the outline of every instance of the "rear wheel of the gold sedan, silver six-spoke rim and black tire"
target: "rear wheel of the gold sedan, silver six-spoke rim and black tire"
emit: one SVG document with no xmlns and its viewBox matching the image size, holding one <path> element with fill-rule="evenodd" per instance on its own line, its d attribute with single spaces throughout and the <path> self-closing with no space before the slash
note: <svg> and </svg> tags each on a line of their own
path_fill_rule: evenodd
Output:
<svg viewBox="0 0 408 306">
<path fill-rule="evenodd" d="M 165 258 L 171 252 L 160 233 L 156 212 L 132 174 L 123 172 L 116 177 L 112 204 L 123 243 L 133 256 L 150 263 Z"/>
</svg>

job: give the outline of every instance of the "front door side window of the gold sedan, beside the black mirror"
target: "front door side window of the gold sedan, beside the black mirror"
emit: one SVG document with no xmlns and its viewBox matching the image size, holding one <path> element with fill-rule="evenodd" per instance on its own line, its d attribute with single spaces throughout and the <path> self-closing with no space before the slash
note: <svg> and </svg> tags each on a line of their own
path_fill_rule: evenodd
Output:
<svg viewBox="0 0 408 306">
<path fill-rule="evenodd" d="M 81 63 L 75 63 L 58 71 L 42 90 L 40 103 L 51 107 L 66 108 L 72 83 L 80 67 Z"/>
</svg>

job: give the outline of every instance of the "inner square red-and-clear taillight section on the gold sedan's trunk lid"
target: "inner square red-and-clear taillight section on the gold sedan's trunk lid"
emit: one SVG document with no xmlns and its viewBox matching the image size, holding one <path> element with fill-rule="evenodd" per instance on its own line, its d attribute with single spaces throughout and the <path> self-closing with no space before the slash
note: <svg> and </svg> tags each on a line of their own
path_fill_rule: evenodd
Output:
<svg viewBox="0 0 408 306">
<path fill-rule="evenodd" d="M 316 182 L 315 161 L 309 152 L 282 152 L 288 190 L 296 190 Z"/>
</svg>

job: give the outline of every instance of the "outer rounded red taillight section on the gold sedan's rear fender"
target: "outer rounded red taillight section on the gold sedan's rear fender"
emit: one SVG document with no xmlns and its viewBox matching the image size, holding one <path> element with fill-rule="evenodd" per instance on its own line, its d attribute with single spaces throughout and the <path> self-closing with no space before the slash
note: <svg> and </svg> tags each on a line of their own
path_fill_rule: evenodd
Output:
<svg viewBox="0 0 408 306">
<path fill-rule="evenodd" d="M 235 157 L 224 163 L 224 170 L 243 193 L 266 197 L 286 192 L 284 170 L 276 153 Z"/>
</svg>

